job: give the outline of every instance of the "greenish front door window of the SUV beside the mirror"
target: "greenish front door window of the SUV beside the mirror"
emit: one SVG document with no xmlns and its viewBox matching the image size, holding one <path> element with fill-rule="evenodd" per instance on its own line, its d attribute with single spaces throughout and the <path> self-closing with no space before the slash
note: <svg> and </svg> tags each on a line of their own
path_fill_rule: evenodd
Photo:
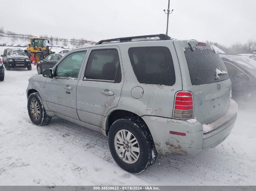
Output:
<svg viewBox="0 0 256 191">
<path fill-rule="evenodd" d="M 55 76 L 64 78 L 78 78 L 85 53 L 86 51 L 68 55 L 58 64 Z"/>
</svg>

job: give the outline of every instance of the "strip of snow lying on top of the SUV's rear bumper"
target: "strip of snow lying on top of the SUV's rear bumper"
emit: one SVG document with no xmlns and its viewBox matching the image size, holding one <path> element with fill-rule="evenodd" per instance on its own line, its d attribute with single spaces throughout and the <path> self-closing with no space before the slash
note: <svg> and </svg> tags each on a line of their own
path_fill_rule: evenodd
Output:
<svg viewBox="0 0 256 191">
<path fill-rule="evenodd" d="M 221 126 L 225 122 L 229 121 L 238 111 L 238 105 L 234 100 L 230 100 L 229 108 L 227 113 L 222 116 L 221 118 L 217 119 L 213 123 L 208 125 L 203 124 L 203 131 L 204 133 L 210 132 L 213 129 L 216 129 L 218 126 Z"/>
</svg>

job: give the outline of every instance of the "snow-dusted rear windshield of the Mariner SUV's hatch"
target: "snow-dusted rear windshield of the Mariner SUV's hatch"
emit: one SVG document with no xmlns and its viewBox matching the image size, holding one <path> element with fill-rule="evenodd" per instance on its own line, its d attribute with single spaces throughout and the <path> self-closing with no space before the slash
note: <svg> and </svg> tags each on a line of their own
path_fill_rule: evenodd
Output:
<svg viewBox="0 0 256 191">
<path fill-rule="evenodd" d="M 229 78 L 228 74 L 218 75 L 219 79 L 216 78 L 216 68 L 224 73 L 227 69 L 221 57 L 212 49 L 194 47 L 192 51 L 185 47 L 185 56 L 192 85 L 210 84 Z"/>
</svg>

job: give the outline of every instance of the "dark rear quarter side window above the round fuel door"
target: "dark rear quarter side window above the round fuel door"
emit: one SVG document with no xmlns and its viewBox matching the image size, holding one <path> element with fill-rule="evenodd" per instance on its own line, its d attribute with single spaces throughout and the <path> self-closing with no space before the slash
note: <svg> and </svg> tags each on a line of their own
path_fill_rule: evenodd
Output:
<svg viewBox="0 0 256 191">
<path fill-rule="evenodd" d="M 141 84 L 175 84 L 170 50 L 163 46 L 133 47 L 128 50 L 136 78 Z"/>
</svg>

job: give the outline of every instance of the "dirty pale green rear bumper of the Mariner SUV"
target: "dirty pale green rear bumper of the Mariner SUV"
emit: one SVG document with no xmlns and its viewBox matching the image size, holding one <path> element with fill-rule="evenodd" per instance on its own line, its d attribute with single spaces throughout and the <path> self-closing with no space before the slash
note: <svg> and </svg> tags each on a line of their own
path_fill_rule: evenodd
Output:
<svg viewBox="0 0 256 191">
<path fill-rule="evenodd" d="M 230 134 L 236 120 L 235 115 L 223 123 L 219 130 L 206 136 L 203 125 L 199 122 L 189 123 L 186 120 L 168 119 L 155 116 L 143 116 L 153 137 L 158 154 L 189 155 L 199 154 L 214 148 Z M 185 133 L 185 136 L 170 134 L 170 131 Z"/>
</svg>

